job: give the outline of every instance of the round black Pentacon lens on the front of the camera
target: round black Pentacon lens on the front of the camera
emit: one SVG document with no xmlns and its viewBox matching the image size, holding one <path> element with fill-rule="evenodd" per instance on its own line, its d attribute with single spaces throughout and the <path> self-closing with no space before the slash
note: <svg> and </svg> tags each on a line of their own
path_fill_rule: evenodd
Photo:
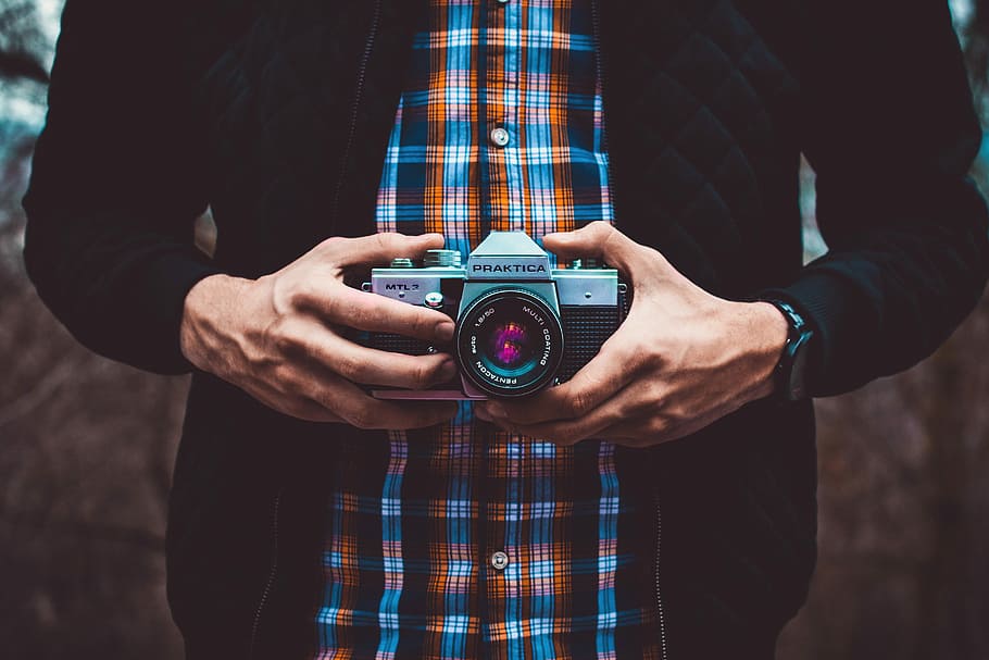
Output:
<svg viewBox="0 0 989 660">
<path fill-rule="evenodd" d="M 499 289 L 475 300 L 458 321 L 458 359 L 479 389 L 517 397 L 546 386 L 563 359 L 559 315 L 538 296 Z"/>
</svg>

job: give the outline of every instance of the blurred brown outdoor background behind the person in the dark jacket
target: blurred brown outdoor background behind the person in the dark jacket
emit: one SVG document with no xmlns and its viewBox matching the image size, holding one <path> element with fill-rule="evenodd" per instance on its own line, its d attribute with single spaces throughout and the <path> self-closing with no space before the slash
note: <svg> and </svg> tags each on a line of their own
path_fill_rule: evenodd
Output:
<svg viewBox="0 0 989 660">
<path fill-rule="evenodd" d="M 61 4 L 0 0 L 0 656 L 178 658 L 163 535 L 188 381 L 79 347 L 21 261 Z M 985 120 L 989 0 L 951 5 Z M 783 660 L 989 659 L 987 338 L 984 299 L 922 365 L 817 403 L 821 561 Z"/>
</svg>

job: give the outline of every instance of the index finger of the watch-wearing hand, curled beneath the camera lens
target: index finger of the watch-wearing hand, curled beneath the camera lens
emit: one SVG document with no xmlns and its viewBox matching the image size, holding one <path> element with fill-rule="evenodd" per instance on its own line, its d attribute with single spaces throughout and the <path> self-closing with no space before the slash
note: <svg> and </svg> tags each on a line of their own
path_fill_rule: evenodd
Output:
<svg viewBox="0 0 989 660">
<path fill-rule="evenodd" d="M 621 336 L 616 333 L 566 383 L 526 399 L 498 399 L 486 401 L 481 406 L 494 420 L 510 420 L 515 424 L 539 424 L 584 416 L 614 396 L 635 376 L 635 362 L 622 346 Z"/>
</svg>

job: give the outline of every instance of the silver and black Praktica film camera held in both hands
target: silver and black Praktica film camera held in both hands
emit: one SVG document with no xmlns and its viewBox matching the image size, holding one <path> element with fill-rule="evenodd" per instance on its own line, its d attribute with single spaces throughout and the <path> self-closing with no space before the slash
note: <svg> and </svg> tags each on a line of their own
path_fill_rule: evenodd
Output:
<svg viewBox="0 0 989 660">
<path fill-rule="evenodd" d="M 467 257 L 429 250 L 422 262 L 374 269 L 363 289 L 441 311 L 455 322 L 452 347 L 389 333 L 361 344 L 422 356 L 451 352 L 458 377 L 427 390 L 374 389 L 380 399 L 522 397 L 563 383 L 587 364 L 628 312 L 618 272 L 580 261 L 550 266 L 524 232 L 491 232 Z M 591 266 L 591 267 L 588 267 Z"/>
</svg>

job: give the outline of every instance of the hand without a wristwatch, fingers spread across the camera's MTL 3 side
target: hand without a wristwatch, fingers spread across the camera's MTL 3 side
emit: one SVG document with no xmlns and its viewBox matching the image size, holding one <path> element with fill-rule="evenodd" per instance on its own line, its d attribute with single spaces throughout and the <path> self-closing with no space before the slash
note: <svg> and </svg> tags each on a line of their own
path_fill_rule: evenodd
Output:
<svg viewBox="0 0 989 660">
<path fill-rule="evenodd" d="M 183 353 L 197 368 L 296 418 L 392 429 L 448 420 L 456 411 L 451 402 L 379 401 L 355 384 L 424 389 L 453 377 L 450 356 L 374 350 L 341 331 L 449 341 L 453 321 L 446 314 L 343 284 L 348 267 L 387 264 L 442 246 L 438 234 L 335 237 L 256 281 L 206 277 L 186 297 Z"/>
</svg>

